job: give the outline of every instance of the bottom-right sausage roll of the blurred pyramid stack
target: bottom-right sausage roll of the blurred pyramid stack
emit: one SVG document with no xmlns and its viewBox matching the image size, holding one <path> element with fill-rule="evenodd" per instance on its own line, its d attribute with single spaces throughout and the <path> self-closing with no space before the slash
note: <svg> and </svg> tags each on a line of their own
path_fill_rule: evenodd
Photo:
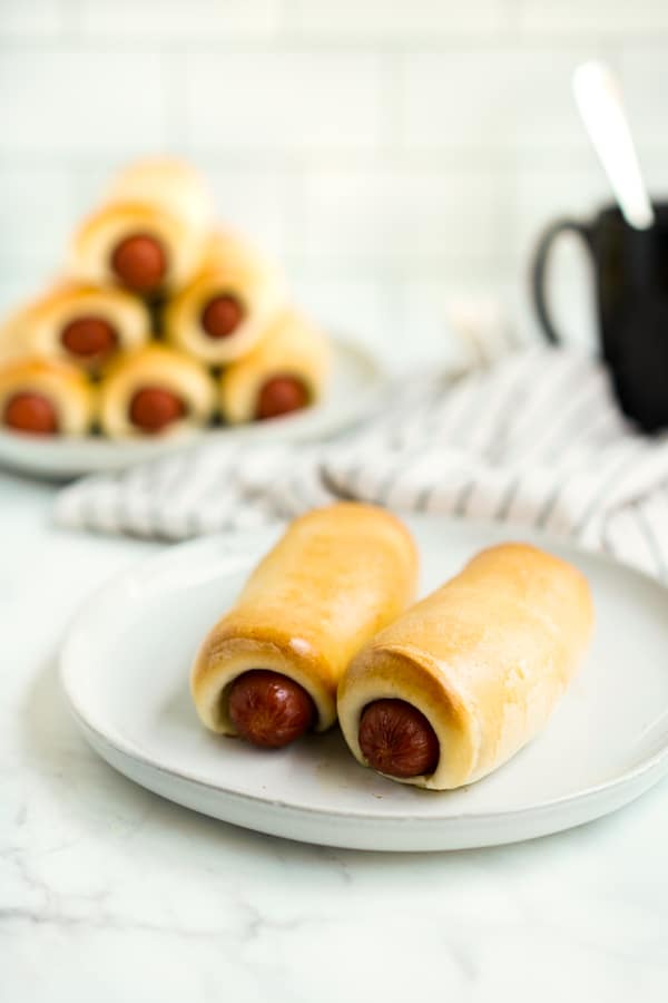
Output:
<svg viewBox="0 0 668 1003">
<path fill-rule="evenodd" d="M 316 402 L 330 370 L 330 343 L 311 321 L 285 310 L 245 359 L 220 377 L 220 411 L 230 425 L 276 418 Z"/>
</svg>

